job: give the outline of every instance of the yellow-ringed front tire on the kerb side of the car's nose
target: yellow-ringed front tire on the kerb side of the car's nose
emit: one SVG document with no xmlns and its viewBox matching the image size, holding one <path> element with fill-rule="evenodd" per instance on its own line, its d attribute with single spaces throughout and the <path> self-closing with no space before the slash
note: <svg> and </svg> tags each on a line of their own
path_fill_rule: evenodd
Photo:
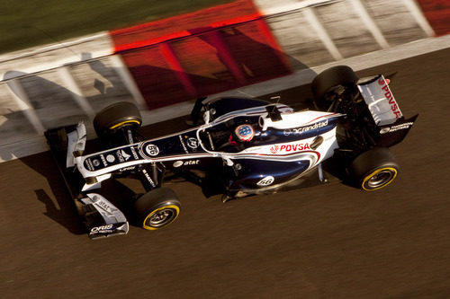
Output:
<svg viewBox="0 0 450 299">
<path fill-rule="evenodd" d="M 95 115 L 94 129 L 97 136 L 113 133 L 124 127 L 140 127 L 142 117 L 138 107 L 128 101 L 112 104 Z"/>
</svg>

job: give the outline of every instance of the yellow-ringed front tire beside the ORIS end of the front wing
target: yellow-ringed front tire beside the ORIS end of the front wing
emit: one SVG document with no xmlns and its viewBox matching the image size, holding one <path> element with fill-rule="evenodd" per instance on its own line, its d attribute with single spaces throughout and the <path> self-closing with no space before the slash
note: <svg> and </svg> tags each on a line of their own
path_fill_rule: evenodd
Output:
<svg viewBox="0 0 450 299">
<path fill-rule="evenodd" d="M 150 231 L 160 229 L 175 221 L 180 207 L 172 189 L 153 189 L 134 203 L 137 224 Z"/>
</svg>

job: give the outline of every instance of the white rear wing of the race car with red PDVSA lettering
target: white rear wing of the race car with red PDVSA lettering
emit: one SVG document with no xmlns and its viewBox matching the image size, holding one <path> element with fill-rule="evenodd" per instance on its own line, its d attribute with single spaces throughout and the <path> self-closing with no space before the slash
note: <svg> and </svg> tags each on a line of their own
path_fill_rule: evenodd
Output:
<svg viewBox="0 0 450 299">
<path fill-rule="evenodd" d="M 357 86 L 375 125 L 380 129 L 377 145 L 392 146 L 400 143 L 419 114 L 410 119 L 403 117 L 400 106 L 389 88 L 389 81 L 383 75 L 363 78 Z"/>
</svg>

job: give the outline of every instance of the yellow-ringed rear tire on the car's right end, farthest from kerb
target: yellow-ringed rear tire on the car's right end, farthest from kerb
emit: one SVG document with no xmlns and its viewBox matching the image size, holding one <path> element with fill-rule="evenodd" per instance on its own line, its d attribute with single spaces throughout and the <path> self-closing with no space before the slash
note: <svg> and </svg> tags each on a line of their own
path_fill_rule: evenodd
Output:
<svg viewBox="0 0 450 299">
<path fill-rule="evenodd" d="M 356 187 L 374 191 L 386 187 L 397 177 L 399 164 L 387 147 L 375 147 L 356 157 L 350 174 Z"/>
</svg>

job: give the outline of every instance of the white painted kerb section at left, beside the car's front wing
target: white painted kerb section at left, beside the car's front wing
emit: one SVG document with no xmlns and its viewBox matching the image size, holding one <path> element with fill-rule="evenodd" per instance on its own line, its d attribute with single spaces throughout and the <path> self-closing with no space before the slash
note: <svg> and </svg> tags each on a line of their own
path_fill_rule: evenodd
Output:
<svg viewBox="0 0 450 299">
<path fill-rule="evenodd" d="M 0 77 L 0 161 L 46 150 L 45 129 L 79 120 L 91 126 L 110 103 L 145 109 L 107 33 L 4 55 Z"/>
</svg>

